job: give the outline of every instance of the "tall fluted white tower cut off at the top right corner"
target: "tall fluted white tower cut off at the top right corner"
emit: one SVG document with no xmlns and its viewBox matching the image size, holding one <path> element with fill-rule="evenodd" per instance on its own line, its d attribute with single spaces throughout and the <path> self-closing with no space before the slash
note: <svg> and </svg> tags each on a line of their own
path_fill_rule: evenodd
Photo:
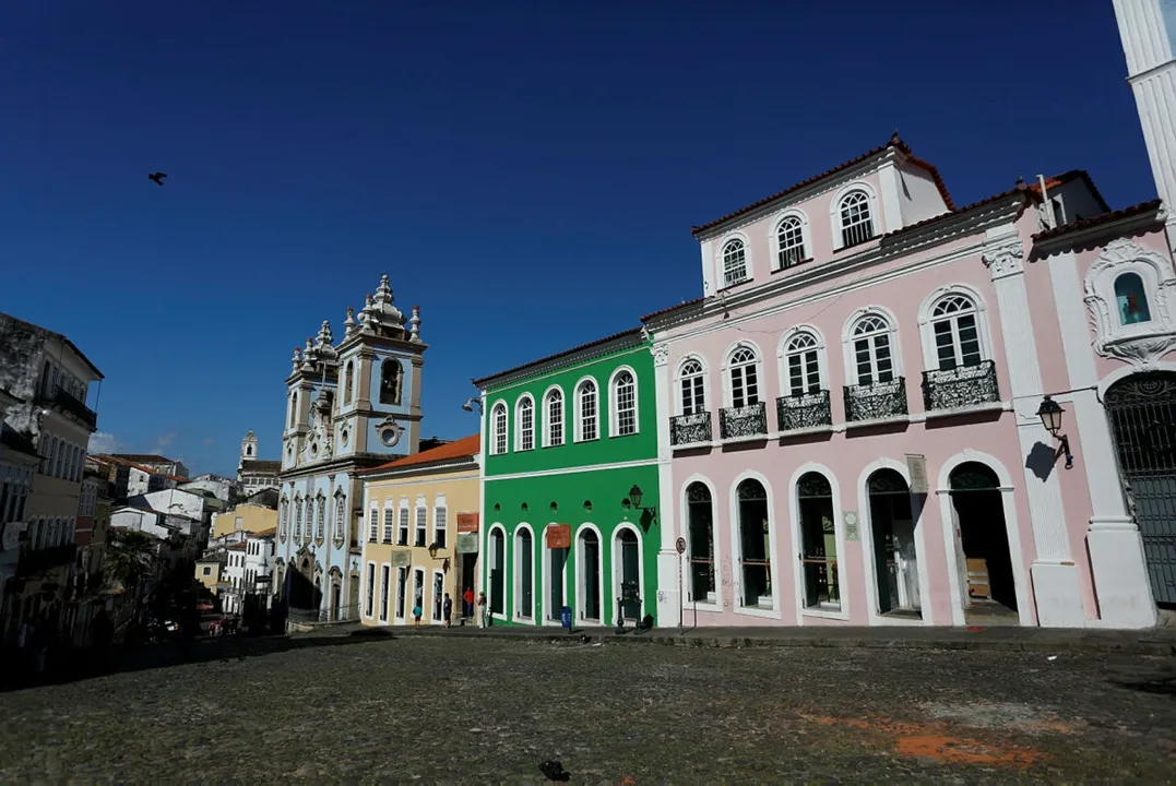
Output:
<svg viewBox="0 0 1176 786">
<path fill-rule="evenodd" d="M 1135 93 L 1156 192 L 1168 214 L 1168 242 L 1176 251 L 1176 0 L 1112 1 L 1127 81 Z"/>
</svg>

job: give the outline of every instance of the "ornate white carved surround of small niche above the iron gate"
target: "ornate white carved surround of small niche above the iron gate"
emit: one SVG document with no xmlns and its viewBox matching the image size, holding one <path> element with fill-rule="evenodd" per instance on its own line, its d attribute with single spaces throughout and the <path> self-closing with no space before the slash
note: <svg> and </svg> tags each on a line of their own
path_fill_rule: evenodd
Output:
<svg viewBox="0 0 1176 786">
<path fill-rule="evenodd" d="M 1132 274 L 1137 280 L 1129 277 L 1123 291 L 1116 293 L 1116 282 Z M 1103 357 L 1143 370 L 1176 350 L 1176 270 L 1170 257 L 1132 240 L 1116 239 L 1090 266 L 1084 300 L 1094 348 Z"/>
</svg>

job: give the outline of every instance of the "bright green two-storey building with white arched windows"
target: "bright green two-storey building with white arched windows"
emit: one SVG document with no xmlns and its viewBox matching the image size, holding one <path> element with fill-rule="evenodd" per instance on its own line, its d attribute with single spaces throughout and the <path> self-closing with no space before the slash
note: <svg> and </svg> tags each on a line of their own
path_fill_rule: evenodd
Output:
<svg viewBox="0 0 1176 786">
<path fill-rule="evenodd" d="M 475 379 L 481 580 L 494 624 L 657 614 L 657 419 L 641 329 Z"/>
</svg>

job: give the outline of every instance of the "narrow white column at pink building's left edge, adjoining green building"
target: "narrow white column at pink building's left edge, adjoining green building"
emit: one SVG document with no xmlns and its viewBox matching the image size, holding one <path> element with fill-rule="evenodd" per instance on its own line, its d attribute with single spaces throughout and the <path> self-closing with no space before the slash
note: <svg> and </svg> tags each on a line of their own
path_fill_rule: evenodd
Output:
<svg viewBox="0 0 1176 786">
<path fill-rule="evenodd" d="M 669 345 L 654 344 L 654 396 L 657 412 L 657 523 L 661 528 L 661 547 L 657 550 L 657 625 L 677 625 L 682 596 L 677 573 L 681 557 L 674 542 L 677 539 L 677 513 L 674 510 L 674 450 L 670 445 L 670 378 Z"/>
</svg>

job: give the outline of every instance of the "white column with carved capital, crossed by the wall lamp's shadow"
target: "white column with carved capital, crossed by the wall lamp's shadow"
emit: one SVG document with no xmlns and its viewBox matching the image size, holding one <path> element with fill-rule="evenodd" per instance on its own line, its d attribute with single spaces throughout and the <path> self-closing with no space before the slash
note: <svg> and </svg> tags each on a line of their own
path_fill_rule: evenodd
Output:
<svg viewBox="0 0 1176 786">
<path fill-rule="evenodd" d="M 1054 465 L 1045 473 L 1033 458 L 1045 456 L 1047 451 L 1051 455 L 1054 444 L 1037 417 L 1043 389 L 1022 256 L 1021 240 L 1011 227 L 989 230 L 983 258 L 996 289 L 1017 442 L 1027 459 L 1022 463 L 1022 472 L 1037 552 L 1030 569 L 1037 622 L 1043 627 L 1084 627 L 1078 569 L 1070 555 L 1057 478 L 1057 472 L 1064 470 Z M 1036 471 L 1025 464 L 1034 464 Z M 1038 471 L 1045 475 L 1044 479 L 1038 477 Z"/>
</svg>

